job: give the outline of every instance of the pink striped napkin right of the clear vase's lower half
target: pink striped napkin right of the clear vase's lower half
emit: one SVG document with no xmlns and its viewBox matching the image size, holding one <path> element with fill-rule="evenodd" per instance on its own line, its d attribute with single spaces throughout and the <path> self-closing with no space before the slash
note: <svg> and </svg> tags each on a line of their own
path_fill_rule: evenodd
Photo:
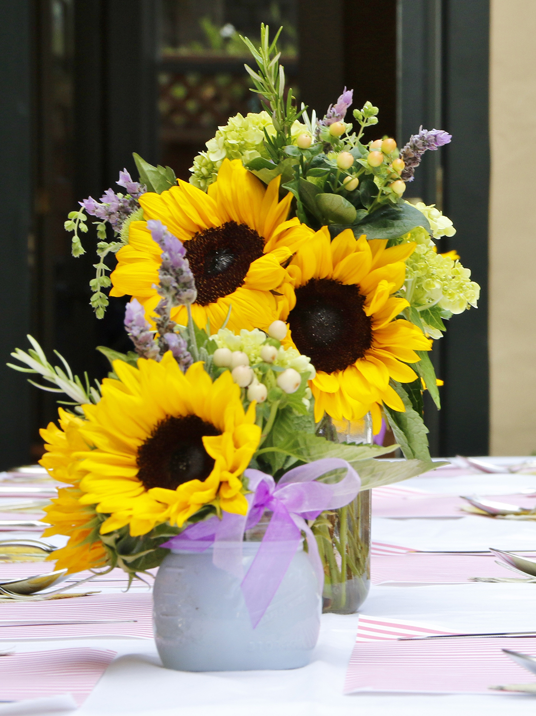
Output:
<svg viewBox="0 0 536 716">
<path fill-rule="evenodd" d="M 528 555 L 527 555 L 528 556 Z M 398 555 L 376 555 L 371 560 L 372 584 L 414 582 L 422 584 L 455 584 L 472 577 L 516 577 L 499 566 L 490 554 L 434 554 L 413 552 Z"/>
</svg>

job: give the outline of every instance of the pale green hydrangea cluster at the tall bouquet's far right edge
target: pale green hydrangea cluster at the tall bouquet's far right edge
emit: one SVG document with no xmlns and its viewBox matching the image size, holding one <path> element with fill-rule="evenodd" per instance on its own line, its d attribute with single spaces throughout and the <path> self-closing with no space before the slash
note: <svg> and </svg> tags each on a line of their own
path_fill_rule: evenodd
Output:
<svg viewBox="0 0 536 716">
<path fill-rule="evenodd" d="M 471 281 L 471 271 L 456 259 L 437 253 L 436 246 L 424 228 L 417 226 L 403 237 L 415 241 L 414 253 L 406 259 L 405 297 L 419 312 L 439 306 L 451 314 L 477 307 L 480 286 Z M 437 328 L 425 324 L 432 338 L 441 338 Z"/>
</svg>

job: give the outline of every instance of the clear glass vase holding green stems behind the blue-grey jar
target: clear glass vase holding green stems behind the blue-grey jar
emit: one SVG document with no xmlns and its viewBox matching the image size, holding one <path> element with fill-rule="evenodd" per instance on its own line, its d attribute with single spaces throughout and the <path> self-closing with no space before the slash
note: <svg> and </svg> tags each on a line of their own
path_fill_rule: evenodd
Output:
<svg viewBox="0 0 536 716">
<path fill-rule="evenodd" d="M 317 435 L 333 442 L 370 445 L 371 417 L 366 415 L 359 422 L 324 417 Z M 312 530 L 324 567 L 323 611 L 354 614 L 370 589 L 370 490 L 363 490 L 343 508 L 321 513 Z"/>
</svg>

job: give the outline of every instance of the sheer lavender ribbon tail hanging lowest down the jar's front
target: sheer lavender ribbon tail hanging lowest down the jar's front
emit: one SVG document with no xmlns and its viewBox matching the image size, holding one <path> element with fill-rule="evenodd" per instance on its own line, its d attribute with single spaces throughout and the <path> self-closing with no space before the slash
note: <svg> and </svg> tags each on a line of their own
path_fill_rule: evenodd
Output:
<svg viewBox="0 0 536 716">
<path fill-rule="evenodd" d="M 276 595 L 300 543 L 300 529 L 285 505 L 274 500 L 273 516 L 241 585 L 253 629 Z"/>
</svg>

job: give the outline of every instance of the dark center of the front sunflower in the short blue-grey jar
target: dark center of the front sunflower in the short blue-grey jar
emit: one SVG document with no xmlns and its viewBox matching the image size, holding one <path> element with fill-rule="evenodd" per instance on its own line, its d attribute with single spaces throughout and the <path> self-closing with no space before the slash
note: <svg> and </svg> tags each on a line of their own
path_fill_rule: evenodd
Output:
<svg viewBox="0 0 536 716">
<path fill-rule="evenodd" d="M 147 490 L 175 490 L 190 480 L 205 480 L 214 460 L 205 450 L 203 435 L 220 435 L 197 415 L 167 417 L 137 451 L 137 477 Z"/>
</svg>

